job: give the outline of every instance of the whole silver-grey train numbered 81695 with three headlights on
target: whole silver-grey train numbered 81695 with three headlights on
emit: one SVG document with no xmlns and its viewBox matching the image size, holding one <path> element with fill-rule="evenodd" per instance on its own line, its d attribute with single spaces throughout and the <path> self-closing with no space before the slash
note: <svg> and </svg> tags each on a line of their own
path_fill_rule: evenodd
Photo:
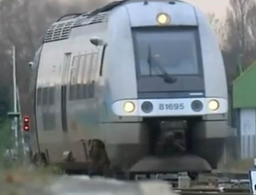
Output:
<svg viewBox="0 0 256 195">
<path fill-rule="evenodd" d="M 31 65 L 34 161 L 102 174 L 217 167 L 226 73 L 197 7 L 126 0 L 66 15 Z"/>
</svg>

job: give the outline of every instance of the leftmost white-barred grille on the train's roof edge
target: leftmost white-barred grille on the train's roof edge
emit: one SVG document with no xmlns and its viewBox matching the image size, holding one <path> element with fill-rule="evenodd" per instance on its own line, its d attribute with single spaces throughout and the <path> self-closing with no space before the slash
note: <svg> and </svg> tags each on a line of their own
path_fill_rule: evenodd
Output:
<svg viewBox="0 0 256 195">
<path fill-rule="evenodd" d="M 73 27 L 73 21 L 64 22 L 61 24 L 51 25 L 46 32 L 44 37 L 44 43 L 51 42 L 54 40 L 63 40 L 67 39 L 70 35 L 71 27 Z"/>
</svg>

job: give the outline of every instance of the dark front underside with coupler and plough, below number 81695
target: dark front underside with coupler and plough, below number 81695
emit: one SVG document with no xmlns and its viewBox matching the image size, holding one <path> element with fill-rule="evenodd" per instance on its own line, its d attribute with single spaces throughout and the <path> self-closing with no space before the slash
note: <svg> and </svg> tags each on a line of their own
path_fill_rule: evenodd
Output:
<svg viewBox="0 0 256 195">
<path fill-rule="evenodd" d="M 196 129 L 201 118 L 157 118 L 145 122 L 149 128 L 149 156 L 133 165 L 131 172 L 188 172 L 194 177 L 217 168 L 224 139 L 198 136 L 199 131 L 206 131 Z"/>
</svg>

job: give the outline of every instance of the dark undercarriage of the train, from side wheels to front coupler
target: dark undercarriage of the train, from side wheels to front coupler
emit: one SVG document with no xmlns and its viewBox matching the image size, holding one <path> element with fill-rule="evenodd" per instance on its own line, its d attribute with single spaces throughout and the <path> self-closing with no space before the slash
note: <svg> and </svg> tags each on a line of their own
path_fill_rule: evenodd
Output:
<svg viewBox="0 0 256 195">
<path fill-rule="evenodd" d="M 146 118 L 143 124 L 148 133 L 148 144 L 139 144 L 137 148 L 120 147 L 118 157 L 124 160 L 119 162 L 119 165 L 123 165 L 125 160 L 128 162 L 125 170 L 128 170 L 130 178 L 136 178 L 137 175 L 142 175 L 141 178 L 143 178 L 145 175 L 180 172 L 187 172 L 191 178 L 195 178 L 198 173 L 210 172 L 212 168 L 216 168 L 222 157 L 224 139 L 223 137 L 202 138 L 199 136 L 201 131 L 206 135 L 207 131 L 216 130 L 215 133 L 220 131 L 221 127 L 215 126 L 215 129 L 209 129 L 210 126 L 205 126 L 207 129 L 203 129 L 204 126 L 199 123 L 202 123 L 201 118 L 176 118 L 175 120 Z M 207 122 L 204 121 L 203 124 L 205 123 Z M 218 121 L 218 123 L 221 122 Z M 84 148 L 86 147 L 84 142 L 81 144 Z M 86 149 L 84 152 L 86 153 Z M 133 158 L 125 159 L 124 155 L 128 153 Z M 109 175 L 115 178 L 124 174 L 120 166 L 113 166 L 112 159 L 107 154 L 107 145 L 105 146 L 101 140 L 91 140 L 90 149 L 86 154 L 90 160 L 86 163 L 75 162 L 73 152 L 66 152 L 63 155 L 65 155 L 65 162 L 59 165 L 70 173 Z M 44 164 L 47 165 L 47 155 L 42 152 L 41 156 Z M 38 161 L 38 155 L 33 157 L 33 161 Z"/>
</svg>

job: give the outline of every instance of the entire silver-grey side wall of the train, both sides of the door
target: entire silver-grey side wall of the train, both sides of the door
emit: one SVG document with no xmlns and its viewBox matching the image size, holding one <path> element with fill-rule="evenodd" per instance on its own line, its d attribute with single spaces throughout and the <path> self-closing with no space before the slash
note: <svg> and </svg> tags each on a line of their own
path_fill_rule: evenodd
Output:
<svg viewBox="0 0 256 195">
<path fill-rule="evenodd" d="M 102 97 L 98 90 L 102 48 L 96 48 L 89 40 L 92 35 L 104 36 L 100 26 L 102 24 L 96 25 L 91 35 L 88 33 L 92 30 L 91 26 L 89 29 L 78 27 L 73 29 L 68 40 L 44 43 L 38 71 L 36 116 L 41 152 L 49 155 L 51 162 L 63 162 L 64 153 L 68 151 L 73 152 L 75 160 L 84 162 L 85 151 L 81 140 L 99 139 L 99 123 L 96 121 L 99 119 L 97 97 Z M 101 33 L 96 33 L 97 28 Z M 91 53 L 95 54 L 94 58 Z M 88 79 L 94 79 L 95 98 L 86 97 Z M 86 84 L 87 87 L 84 87 Z M 41 88 L 49 92 L 42 92 Z M 52 96 L 54 100 L 51 100 Z"/>
</svg>

